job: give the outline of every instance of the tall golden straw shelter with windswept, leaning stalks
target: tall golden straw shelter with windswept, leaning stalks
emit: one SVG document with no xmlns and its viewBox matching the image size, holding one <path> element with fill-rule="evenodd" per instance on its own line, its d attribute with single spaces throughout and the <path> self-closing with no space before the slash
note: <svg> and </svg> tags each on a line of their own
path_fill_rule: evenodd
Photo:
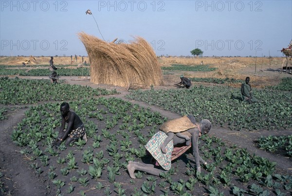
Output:
<svg viewBox="0 0 292 196">
<path fill-rule="evenodd" d="M 91 63 L 91 82 L 121 87 L 162 84 L 162 71 L 151 46 L 143 38 L 129 44 L 78 34 Z"/>
</svg>

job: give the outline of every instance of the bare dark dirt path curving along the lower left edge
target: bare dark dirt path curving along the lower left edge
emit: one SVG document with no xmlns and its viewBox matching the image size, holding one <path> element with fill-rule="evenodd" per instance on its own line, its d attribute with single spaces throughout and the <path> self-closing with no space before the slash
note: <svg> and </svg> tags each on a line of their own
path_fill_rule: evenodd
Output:
<svg viewBox="0 0 292 196">
<path fill-rule="evenodd" d="M 8 119 L 0 121 L 0 172 L 4 180 L 4 195 L 47 196 L 44 181 L 32 173 L 29 162 L 19 153 L 20 148 L 11 140 L 13 128 L 24 118 L 25 109 L 9 112 Z M 2 193 L 0 192 L 0 195 Z"/>
</svg>

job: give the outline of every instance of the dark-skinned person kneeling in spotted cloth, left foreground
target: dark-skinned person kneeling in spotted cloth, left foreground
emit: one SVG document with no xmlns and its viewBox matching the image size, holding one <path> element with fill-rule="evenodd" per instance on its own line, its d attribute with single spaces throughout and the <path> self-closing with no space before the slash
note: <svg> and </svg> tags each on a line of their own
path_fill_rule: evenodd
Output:
<svg viewBox="0 0 292 196">
<path fill-rule="evenodd" d="M 62 116 L 62 124 L 55 145 L 59 146 L 65 140 L 65 145 L 69 146 L 71 142 L 77 141 L 79 138 L 83 138 L 87 141 L 83 122 L 77 114 L 70 111 L 69 103 L 63 102 L 60 106 L 60 112 Z M 68 125 L 65 129 L 66 122 Z"/>
</svg>

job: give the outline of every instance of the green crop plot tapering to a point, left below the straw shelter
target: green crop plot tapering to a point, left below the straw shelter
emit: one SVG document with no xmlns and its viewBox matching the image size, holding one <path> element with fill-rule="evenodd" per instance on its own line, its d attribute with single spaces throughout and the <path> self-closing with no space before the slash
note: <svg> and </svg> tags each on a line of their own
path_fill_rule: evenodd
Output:
<svg viewBox="0 0 292 196">
<path fill-rule="evenodd" d="M 117 94 L 116 90 L 89 86 L 52 84 L 48 79 L 0 78 L 0 104 L 26 104 L 38 101 L 60 101 Z"/>
</svg>

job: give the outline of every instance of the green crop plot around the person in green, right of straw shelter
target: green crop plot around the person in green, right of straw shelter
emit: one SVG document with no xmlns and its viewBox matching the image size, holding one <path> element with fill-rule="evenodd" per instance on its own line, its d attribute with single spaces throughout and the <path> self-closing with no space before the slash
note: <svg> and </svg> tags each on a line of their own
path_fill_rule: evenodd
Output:
<svg viewBox="0 0 292 196">
<path fill-rule="evenodd" d="M 242 102 L 240 87 L 192 86 L 190 89 L 136 90 L 127 98 L 144 101 L 180 115 L 209 119 L 232 130 L 292 128 L 292 93 L 254 89 L 258 103 Z"/>
</svg>

